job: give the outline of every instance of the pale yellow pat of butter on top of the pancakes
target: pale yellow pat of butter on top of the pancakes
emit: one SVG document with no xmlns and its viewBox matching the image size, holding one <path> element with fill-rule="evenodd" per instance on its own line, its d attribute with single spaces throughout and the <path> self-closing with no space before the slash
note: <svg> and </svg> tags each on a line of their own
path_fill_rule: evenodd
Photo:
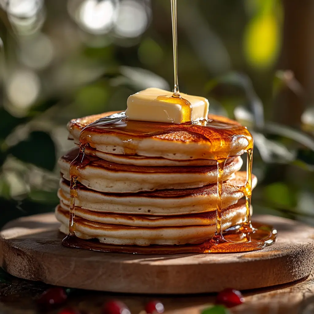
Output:
<svg viewBox="0 0 314 314">
<path fill-rule="evenodd" d="M 180 99 L 177 102 L 173 98 L 171 102 L 166 101 L 172 94 L 159 88 L 148 88 L 133 94 L 127 99 L 126 116 L 129 120 L 180 124 L 184 122 L 186 108 Z M 192 121 L 207 119 L 209 103 L 206 98 L 180 95 L 192 105 Z"/>
</svg>

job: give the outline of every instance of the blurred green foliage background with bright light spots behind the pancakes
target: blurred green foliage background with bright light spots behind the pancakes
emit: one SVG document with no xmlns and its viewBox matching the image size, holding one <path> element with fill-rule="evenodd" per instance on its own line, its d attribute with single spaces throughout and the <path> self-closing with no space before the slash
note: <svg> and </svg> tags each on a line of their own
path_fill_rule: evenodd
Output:
<svg viewBox="0 0 314 314">
<path fill-rule="evenodd" d="M 170 0 L 0 0 L 0 225 L 53 210 L 75 117 L 171 89 Z M 178 0 L 179 85 L 255 140 L 255 212 L 314 224 L 314 1 Z"/>
</svg>

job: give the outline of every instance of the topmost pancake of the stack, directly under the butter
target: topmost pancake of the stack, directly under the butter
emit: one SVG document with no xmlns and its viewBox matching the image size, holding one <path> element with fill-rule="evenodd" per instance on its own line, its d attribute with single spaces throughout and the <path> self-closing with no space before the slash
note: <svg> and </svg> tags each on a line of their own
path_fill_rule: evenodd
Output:
<svg viewBox="0 0 314 314">
<path fill-rule="evenodd" d="M 78 145 L 79 134 L 84 127 L 110 115 L 112 112 L 71 120 L 68 123 L 69 138 L 74 139 L 74 143 Z M 225 155 L 228 145 L 225 144 L 223 137 L 234 135 L 232 127 L 240 126 L 236 121 L 216 115 L 208 115 L 208 123 L 213 120 L 214 123 L 211 123 L 211 126 L 214 128 L 126 121 L 122 119 L 125 117 L 123 112 L 111 117 L 113 122 L 110 125 L 99 123 L 100 127 L 97 128 L 89 126 L 88 143 L 92 148 L 110 154 L 137 154 L 170 160 L 215 160 L 217 156 Z M 206 124 L 207 122 L 202 122 L 201 125 Z M 101 127 L 103 127 L 103 132 L 101 132 Z M 201 133 L 200 130 L 202 130 Z M 210 141 L 205 137 L 205 133 L 206 137 L 211 139 Z M 229 155 L 243 154 L 248 143 L 246 136 L 234 137 Z"/>
</svg>

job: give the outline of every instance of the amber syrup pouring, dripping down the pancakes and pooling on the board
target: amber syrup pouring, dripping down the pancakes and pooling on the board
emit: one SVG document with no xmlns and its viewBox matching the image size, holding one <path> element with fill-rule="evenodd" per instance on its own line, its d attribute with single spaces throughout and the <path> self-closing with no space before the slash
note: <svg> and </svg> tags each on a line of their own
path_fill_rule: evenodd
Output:
<svg viewBox="0 0 314 314">
<path fill-rule="evenodd" d="M 253 138 L 246 127 L 236 122 L 222 122 L 214 118 L 192 122 L 192 106 L 181 98 L 178 85 L 177 73 L 177 29 L 176 29 L 176 0 L 171 0 L 172 31 L 173 31 L 173 51 L 174 51 L 174 73 L 175 86 L 171 97 L 159 96 L 158 100 L 180 104 L 183 109 L 183 123 L 151 123 L 142 121 L 128 121 L 125 112 L 103 117 L 86 127 L 80 132 L 80 150 L 78 157 L 70 165 L 70 214 L 69 233 L 62 244 L 64 246 L 83 248 L 103 252 L 125 252 L 140 254 L 174 254 L 174 253 L 231 253 L 247 252 L 263 249 L 265 246 L 275 242 L 277 231 L 269 225 L 262 225 L 251 222 L 250 208 L 252 196 L 252 153 Z M 137 145 L 132 138 L 151 137 L 155 135 L 169 134 L 177 131 L 193 133 L 199 142 L 208 141 L 217 162 L 217 209 L 216 209 L 216 229 L 211 239 L 198 245 L 150 245 L 150 246 L 130 246 L 130 245 L 109 245 L 100 243 L 98 240 L 82 240 L 75 236 L 75 198 L 77 197 L 76 182 L 78 178 L 78 168 L 85 167 L 89 159 L 85 158 L 85 147 L 89 145 L 91 133 L 113 133 L 120 138 L 124 144 L 124 153 L 128 155 L 136 154 Z M 230 157 L 233 144 L 239 139 L 247 142 L 247 165 L 246 184 L 242 188 L 246 203 L 246 215 L 242 225 L 232 227 L 222 232 L 221 211 L 222 211 L 222 182 L 225 161 Z M 184 140 L 184 138 L 183 138 Z M 240 152 L 239 154 L 242 154 Z M 81 219 L 81 218 L 77 218 Z"/>
</svg>

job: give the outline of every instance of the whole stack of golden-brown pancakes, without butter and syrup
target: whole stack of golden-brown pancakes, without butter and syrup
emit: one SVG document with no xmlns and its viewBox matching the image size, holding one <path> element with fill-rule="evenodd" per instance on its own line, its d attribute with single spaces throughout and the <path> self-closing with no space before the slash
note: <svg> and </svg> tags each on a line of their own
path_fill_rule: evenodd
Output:
<svg viewBox="0 0 314 314">
<path fill-rule="evenodd" d="M 78 156 L 80 132 L 90 123 L 112 114 L 68 123 L 69 139 L 77 148 L 59 160 L 60 204 L 56 208 L 60 230 L 65 234 L 69 225 L 69 169 Z M 236 124 L 224 117 L 209 116 L 209 119 Z M 147 122 L 136 123 L 140 129 L 141 123 Z M 175 128 L 145 137 L 131 132 L 128 139 L 117 130 L 86 131 L 84 165 L 72 173 L 78 177 L 75 235 L 107 244 L 138 246 L 198 244 L 211 238 L 216 222 L 217 163 L 210 143 L 200 140 L 199 134 Z M 225 163 L 223 230 L 241 225 L 245 218 L 242 191 L 246 172 L 239 170 L 240 155 L 246 146 L 247 142 L 239 138 Z M 252 187 L 256 183 L 253 176 Z"/>
</svg>

